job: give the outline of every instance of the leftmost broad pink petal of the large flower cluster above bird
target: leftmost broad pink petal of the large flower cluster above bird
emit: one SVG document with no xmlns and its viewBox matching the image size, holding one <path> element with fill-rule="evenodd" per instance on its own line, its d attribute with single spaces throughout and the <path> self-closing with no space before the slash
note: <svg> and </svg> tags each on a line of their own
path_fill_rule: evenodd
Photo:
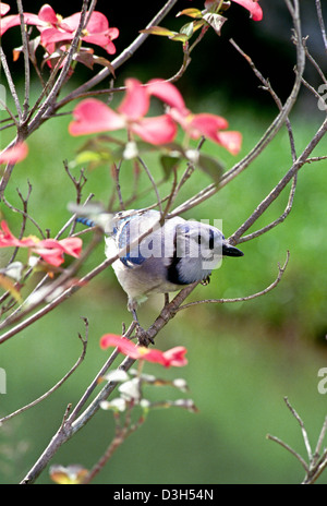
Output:
<svg viewBox="0 0 327 506">
<path fill-rule="evenodd" d="M 71 135 L 119 130 L 125 126 L 124 119 L 96 98 L 82 100 L 74 109 L 74 121 L 69 125 Z"/>
</svg>

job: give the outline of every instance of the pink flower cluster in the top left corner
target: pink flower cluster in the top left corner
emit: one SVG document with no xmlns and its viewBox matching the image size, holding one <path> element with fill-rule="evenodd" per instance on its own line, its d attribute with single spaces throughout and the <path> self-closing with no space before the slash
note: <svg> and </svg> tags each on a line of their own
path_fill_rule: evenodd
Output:
<svg viewBox="0 0 327 506">
<path fill-rule="evenodd" d="M 7 14 L 10 5 L 1 3 L 1 15 Z M 35 25 L 40 32 L 40 43 L 49 55 L 56 50 L 58 43 L 66 44 L 73 40 L 75 32 L 80 25 L 81 13 L 75 13 L 69 17 L 56 14 L 53 9 L 47 3 L 41 7 L 38 14 L 24 13 L 24 22 L 27 25 Z M 0 35 L 2 36 L 9 28 L 21 24 L 20 14 L 7 15 L 1 19 Z M 110 28 L 107 17 L 98 11 L 94 11 L 87 25 L 82 31 L 82 40 L 95 44 L 106 49 L 109 55 L 116 52 L 112 43 L 119 36 L 118 28 Z"/>
</svg>

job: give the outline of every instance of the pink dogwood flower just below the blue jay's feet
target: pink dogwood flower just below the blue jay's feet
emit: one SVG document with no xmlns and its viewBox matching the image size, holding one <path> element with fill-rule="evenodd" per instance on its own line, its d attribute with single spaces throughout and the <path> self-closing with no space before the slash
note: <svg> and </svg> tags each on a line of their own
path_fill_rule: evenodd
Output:
<svg viewBox="0 0 327 506">
<path fill-rule="evenodd" d="M 181 368 L 187 363 L 187 360 L 184 357 L 186 349 L 182 346 L 177 346 L 170 350 L 161 351 L 155 348 L 148 349 L 144 346 L 135 346 L 125 337 L 121 337 L 116 334 L 105 334 L 100 339 L 100 347 L 106 349 L 111 346 L 117 347 L 121 353 L 131 357 L 131 359 L 159 363 L 165 368 Z"/>
</svg>

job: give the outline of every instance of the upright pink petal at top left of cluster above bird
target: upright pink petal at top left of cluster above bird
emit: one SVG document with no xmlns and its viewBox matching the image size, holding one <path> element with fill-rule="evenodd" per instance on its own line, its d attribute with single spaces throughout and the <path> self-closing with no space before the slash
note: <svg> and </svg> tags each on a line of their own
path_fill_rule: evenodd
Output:
<svg viewBox="0 0 327 506">
<path fill-rule="evenodd" d="M 128 79 L 125 85 L 126 93 L 118 111 L 125 115 L 129 120 L 138 120 L 148 111 L 149 96 L 136 79 Z"/>
</svg>

